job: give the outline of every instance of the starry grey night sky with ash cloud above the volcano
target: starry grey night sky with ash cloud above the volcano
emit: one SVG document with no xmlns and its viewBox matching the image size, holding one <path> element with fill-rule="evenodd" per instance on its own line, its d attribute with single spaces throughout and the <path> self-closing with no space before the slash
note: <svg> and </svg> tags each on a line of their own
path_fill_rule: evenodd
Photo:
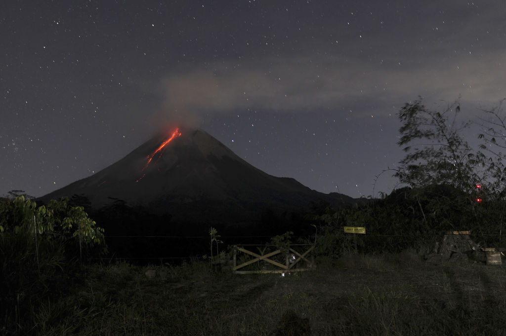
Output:
<svg viewBox="0 0 506 336">
<path fill-rule="evenodd" d="M 3 1 L 0 195 L 43 196 L 162 124 L 201 127 L 275 176 L 390 193 L 397 112 L 506 97 L 506 3 Z M 147 153 L 148 154 L 148 153 Z"/>
</svg>

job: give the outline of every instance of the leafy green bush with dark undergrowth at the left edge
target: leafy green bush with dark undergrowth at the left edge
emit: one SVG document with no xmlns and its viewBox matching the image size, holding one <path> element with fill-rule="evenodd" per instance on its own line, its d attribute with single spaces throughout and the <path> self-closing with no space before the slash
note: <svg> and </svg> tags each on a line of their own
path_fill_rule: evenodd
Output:
<svg viewBox="0 0 506 336">
<path fill-rule="evenodd" d="M 28 332 L 42 302 L 58 300 L 78 279 L 79 256 L 105 250 L 103 229 L 68 200 L 48 207 L 18 197 L 0 200 L 0 315 L 7 332 Z"/>
</svg>

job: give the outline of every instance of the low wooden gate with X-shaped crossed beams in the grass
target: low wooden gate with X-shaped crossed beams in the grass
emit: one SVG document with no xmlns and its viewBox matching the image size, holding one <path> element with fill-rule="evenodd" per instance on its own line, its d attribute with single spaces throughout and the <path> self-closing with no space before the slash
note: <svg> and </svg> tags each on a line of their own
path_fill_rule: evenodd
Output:
<svg viewBox="0 0 506 336">
<path fill-rule="evenodd" d="M 278 263 L 277 261 L 274 261 L 274 260 L 271 260 L 269 259 L 269 257 L 272 257 L 272 256 L 275 256 L 279 253 L 281 253 L 281 250 L 276 250 L 274 252 L 271 252 L 271 253 L 268 253 L 266 255 L 259 255 L 255 252 L 251 252 L 251 251 L 248 251 L 246 249 L 243 249 L 243 248 L 240 248 L 240 247 L 237 247 L 237 251 L 240 251 L 240 252 L 243 252 L 243 253 L 246 253 L 246 254 L 249 254 L 250 256 L 253 256 L 255 257 L 255 259 L 251 259 L 245 263 L 242 263 L 240 265 L 235 265 L 235 256 L 234 256 L 234 268 L 233 268 L 233 271 L 235 273 L 238 273 L 238 274 L 247 274 L 247 273 L 284 273 L 284 272 L 288 272 L 288 271 L 307 271 L 311 268 L 314 268 L 316 267 L 315 263 L 313 261 L 310 261 L 309 259 L 306 258 L 306 256 L 314 250 L 314 247 L 312 246 L 309 250 L 307 250 L 306 252 L 304 252 L 303 254 L 300 254 L 299 252 L 293 250 L 292 248 L 288 248 L 289 251 L 293 252 L 294 254 L 296 254 L 297 256 L 299 256 L 299 258 L 296 258 L 296 260 L 292 263 L 292 264 L 286 264 L 286 265 L 283 265 L 281 263 Z M 270 264 L 273 264 L 281 269 L 278 269 L 278 270 L 258 270 L 258 271 L 238 271 L 238 269 L 244 267 L 244 266 L 247 266 L 247 265 L 250 265 L 252 263 L 256 263 L 256 262 L 259 262 L 259 261 L 266 261 Z M 293 268 L 299 261 L 301 260 L 305 260 L 306 263 L 307 263 L 307 268 Z"/>
</svg>

